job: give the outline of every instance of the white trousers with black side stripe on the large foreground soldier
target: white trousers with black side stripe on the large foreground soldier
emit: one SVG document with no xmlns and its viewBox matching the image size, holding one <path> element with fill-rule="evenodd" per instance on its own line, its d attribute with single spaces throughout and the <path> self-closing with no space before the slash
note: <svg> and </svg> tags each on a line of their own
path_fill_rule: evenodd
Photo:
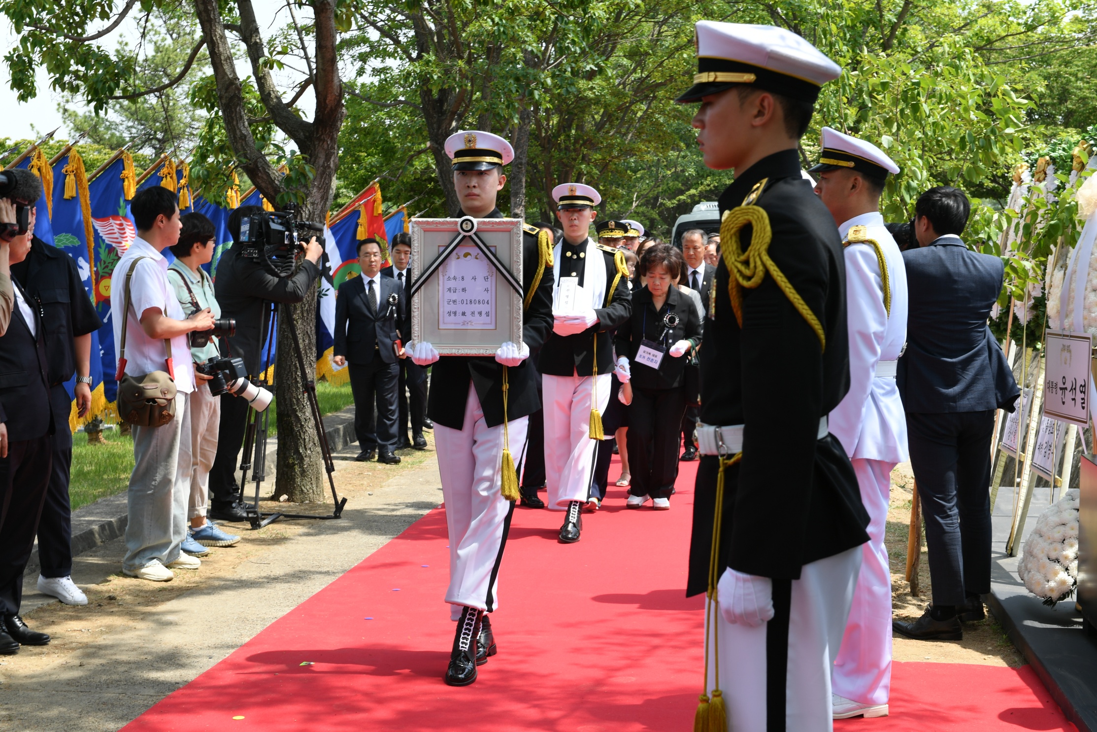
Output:
<svg viewBox="0 0 1097 732">
<path fill-rule="evenodd" d="M 805 564 L 800 579 L 792 581 L 784 687 L 785 729 L 789 732 L 830 732 L 834 729 L 830 668 L 838 654 L 860 564 L 861 548 L 855 547 Z M 715 615 L 720 688 L 727 707 L 727 730 L 766 732 L 766 637 L 773 621 L 751 628 L 727 622 L 719 609 Z M 713 661 L 710 656 L 710 687 L 715 679 Z"/>
</svg>

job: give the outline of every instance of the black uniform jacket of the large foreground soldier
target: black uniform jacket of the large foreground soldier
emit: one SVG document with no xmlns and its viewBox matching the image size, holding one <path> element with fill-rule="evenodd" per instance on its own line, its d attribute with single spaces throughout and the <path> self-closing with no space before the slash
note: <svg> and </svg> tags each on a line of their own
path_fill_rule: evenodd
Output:
<svg viewBox="0 0 1097 732">
<path fill-rule="evenodd" d="M 721 215 L 764 179 L 754 204 L 769 215 L 769 256 L 822 323 L 826 349 L 768 272 L 757 289 L 743 289 L 740 328 L 721 259 L 701 349 L 700 419 L 745 425 L 742 461 L 725 472 L 717 573 L 795 579 L 804 564 L 866 542 L 869 516 L 837 438 L 817 439 L 819 417 L 849 391 L 841 239 L 794 149 L 739 173 L 720 198 Z M 750 229 L 740 232 L 744 250 Z M 708 588 L 717 470 L 706 457 L 698 471 L 687 595 Z"/>
</svg>

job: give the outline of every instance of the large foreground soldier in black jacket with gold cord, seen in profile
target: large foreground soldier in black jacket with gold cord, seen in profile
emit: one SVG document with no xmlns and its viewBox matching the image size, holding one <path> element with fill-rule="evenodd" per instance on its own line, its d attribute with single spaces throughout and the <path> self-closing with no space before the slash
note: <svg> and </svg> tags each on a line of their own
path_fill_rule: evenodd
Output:
<svg viewBox="0 0 1097 732">
<path fill-rule="evenodd" d="M 849 391 L 841 239 L 796 148 L 841 69 L 768 25 L 701 21 L 697 55 L 677 101 L 701 103 L 704 164 L 735 169 L 701 349 L 687 588 L 709 598 L 698 721 L 828 731 L 869 517 L 827 427 Z"/>
</svg>

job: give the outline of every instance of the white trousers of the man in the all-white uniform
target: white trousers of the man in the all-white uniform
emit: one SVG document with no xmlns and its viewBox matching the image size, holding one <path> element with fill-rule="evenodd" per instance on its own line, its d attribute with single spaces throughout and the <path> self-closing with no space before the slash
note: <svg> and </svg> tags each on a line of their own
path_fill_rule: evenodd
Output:
<svg viewBox="0 0 1097 732">
<path fill-rule="evenodd" d="M 861 503 L 869 511 L 869 541 L 861 544 L 861 572 L 834 663 L 834 692 L 862 705 L 885 705 L 891 691 L 891 566 L 884 547 L 891 472 L 896 463 L 853 460 Z"/>
</svg>

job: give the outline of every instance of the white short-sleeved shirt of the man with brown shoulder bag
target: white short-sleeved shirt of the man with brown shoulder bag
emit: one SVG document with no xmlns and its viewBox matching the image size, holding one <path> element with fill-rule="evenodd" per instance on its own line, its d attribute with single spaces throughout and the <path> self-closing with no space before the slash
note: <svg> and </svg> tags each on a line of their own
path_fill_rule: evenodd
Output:
<svg viewBox="0 0 1097 732">
<path fill-rule="evenodd" d="M 134 239 L 111 275 L 111 324 L 114 328 L 115 353 L 121 356 L 122 308 L 125 304 L 126 273 L 138 257 L 129 282 L 129 317 L 126 320 L 126 373 L 138 376 L 150 371 L 167 371 L 168 357 L 163 340 L 154 340 L 140 326 L 142 313 L 158 307 L 165 317 L 185 320 L 176 291 L 168 281 L 168 260 L 139 236 Z M 194 391 L 194 364 L 186 336 L 171 339 L 171 357 L 176 372 L 176 388 L 184 394 Z"/>
</svg>

